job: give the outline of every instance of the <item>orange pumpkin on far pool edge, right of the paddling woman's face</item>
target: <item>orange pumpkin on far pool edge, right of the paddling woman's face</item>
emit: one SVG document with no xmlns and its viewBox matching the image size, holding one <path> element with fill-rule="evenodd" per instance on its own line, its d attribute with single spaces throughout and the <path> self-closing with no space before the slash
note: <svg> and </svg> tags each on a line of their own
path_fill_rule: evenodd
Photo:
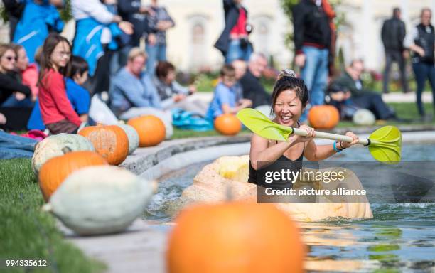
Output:
<svg viewBox="0 0 435 273">
<path fill-rule="evenodd" d="M 340 122 L 340 113 L 332 105 L 316 105 L 308 112 L 308 121 L 316 129 L 333 129 Z"/>
</svg>

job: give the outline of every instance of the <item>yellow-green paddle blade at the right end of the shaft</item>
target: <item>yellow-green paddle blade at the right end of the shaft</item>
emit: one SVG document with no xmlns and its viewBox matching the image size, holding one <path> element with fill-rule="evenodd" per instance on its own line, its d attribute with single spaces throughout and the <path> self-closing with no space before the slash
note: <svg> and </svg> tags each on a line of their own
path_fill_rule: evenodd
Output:
<svg viewBox="0 0 435 273">
<path fill-rule="evenodd" d="M 394 126 L 385 126 L 370 134 L 369 151 L 373 158 L 387 164 L 397 164 L 402 150 L 402 134 Z"/>
</svg>

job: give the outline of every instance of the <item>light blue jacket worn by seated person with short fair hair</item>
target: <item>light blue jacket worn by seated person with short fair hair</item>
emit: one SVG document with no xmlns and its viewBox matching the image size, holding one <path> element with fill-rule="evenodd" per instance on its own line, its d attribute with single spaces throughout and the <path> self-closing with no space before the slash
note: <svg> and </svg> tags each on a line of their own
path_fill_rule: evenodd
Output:
<svg viewBox="0 0 435 273">
<path fill-rule="evenodd" d="M 126 68 L 119 70 L 110 81 L 112 111 L 119 115 L 131 107 L 154 107 L 161 109 L 161 101 L 149 75 L 135 77 Z"/>
</svg>

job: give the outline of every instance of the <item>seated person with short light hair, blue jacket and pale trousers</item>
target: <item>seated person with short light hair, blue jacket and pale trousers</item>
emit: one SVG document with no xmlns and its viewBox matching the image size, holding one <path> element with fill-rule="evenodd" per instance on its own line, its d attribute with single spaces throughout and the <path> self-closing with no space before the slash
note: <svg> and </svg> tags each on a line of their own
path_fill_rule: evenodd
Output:
<svg viewBox="0 0 435 273">
<path fill-rule="evenodd" d="M 146 53 L 132 48 L 127 65 L 110 82 L 111 108 L 119 119 L 131 119 L 145 114 L 159 117 L 166 127 L 166 138 L 171 137 L 172 114 L 163 111 L 159 94 L 151 78 L 144 72 Z"/>
</svg>

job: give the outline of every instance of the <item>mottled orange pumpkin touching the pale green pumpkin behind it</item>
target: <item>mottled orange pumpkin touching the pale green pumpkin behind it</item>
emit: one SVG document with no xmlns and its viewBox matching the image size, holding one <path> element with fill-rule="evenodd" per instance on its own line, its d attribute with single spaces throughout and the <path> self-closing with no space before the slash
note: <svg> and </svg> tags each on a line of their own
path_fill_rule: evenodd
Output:
<svg viewBox="0 0 435 273">
<path fill-rule="evenodd" d="M 119 126 L 90 126 L 81 129 L 78 133 L 89 139 L 95 151 L 111 165 L 121 164 L 129 154 L 129 139 Z"/>
</svg>

